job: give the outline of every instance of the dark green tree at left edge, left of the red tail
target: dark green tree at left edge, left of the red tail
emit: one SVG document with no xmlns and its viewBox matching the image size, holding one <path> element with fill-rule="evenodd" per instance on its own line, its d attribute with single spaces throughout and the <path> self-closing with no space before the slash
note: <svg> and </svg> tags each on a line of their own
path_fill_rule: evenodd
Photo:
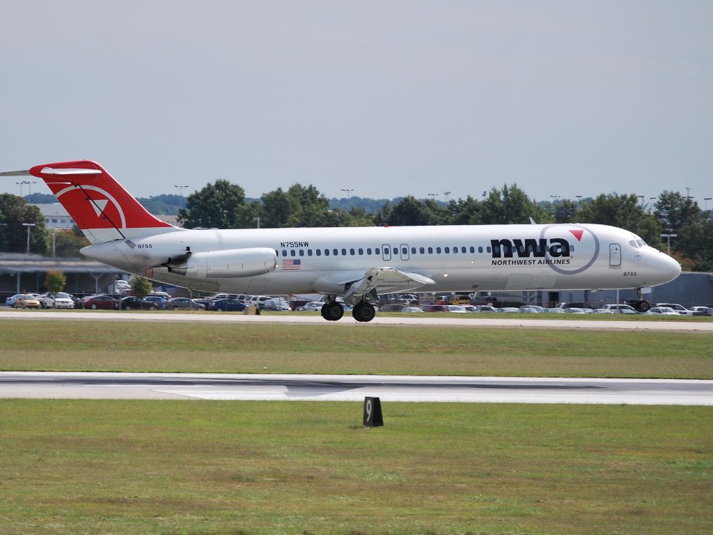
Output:
<svg viewBox="0 0 713 535">
<path fill-rule="evenodd" d="M 11 193 L 0 194 L 0 252 L 24 253 L 27 250 L 27 227 L 30 228 L 30 252 L 44 254 L 47 250 L 47 229 L 39 208 Z"/>
</svg>

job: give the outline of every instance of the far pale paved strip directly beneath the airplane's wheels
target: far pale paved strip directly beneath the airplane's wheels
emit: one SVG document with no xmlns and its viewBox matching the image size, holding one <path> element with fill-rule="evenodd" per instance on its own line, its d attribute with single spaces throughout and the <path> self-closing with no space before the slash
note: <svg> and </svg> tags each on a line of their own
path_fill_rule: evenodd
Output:
<svg viewBox="0 0 713 535">
<path fill-rule="evenodd" d="M 528 327 L 545 329 L 595 329 L 595 330 L 656 330 L 656 331 L 699 331 L 713 332 L 713 322 L 692 320 L 647 321 L 637 320 L 538 320 L 533 315 L 523 317 L 498 317 L 493 314 L 463 314 L 463 317 L 439 317 L 438 314 L 414 314 L 413 317 L 379 316 L 369 323 L 361 323 L 349 315 L 342 320 L 328 322 L 315 312 L 294 312 L 292 314 L 259 316 L 243 315 L 235 312 L 215 312 L 188 314 L 180 312 L 110 312 L 103 310 L 0 310 L 0 320 L 119 320 L 145 322 L 220 322 L 220 323 L 282 323 L 352 325 L 441 325 L 451 327 Z"/>
</svg>

